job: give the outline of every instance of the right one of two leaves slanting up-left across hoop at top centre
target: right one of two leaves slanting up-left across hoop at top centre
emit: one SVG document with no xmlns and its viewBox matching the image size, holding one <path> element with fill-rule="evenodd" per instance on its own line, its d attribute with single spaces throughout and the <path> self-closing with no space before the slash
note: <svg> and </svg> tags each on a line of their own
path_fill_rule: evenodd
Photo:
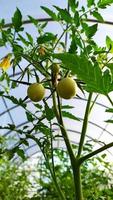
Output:
<svg viewBox="0 0 113 200">
<path fill-rule="evenodd" d="M 59 15 L 61 16 L 61 20 L 64 20 L 67 23 L 72 22 L 71 15 L 69 14 L 69 12 L 66 9 L 61 9 L 57 6 L 54 6 L 54 7 L 59 11 Z"/>
</svg>

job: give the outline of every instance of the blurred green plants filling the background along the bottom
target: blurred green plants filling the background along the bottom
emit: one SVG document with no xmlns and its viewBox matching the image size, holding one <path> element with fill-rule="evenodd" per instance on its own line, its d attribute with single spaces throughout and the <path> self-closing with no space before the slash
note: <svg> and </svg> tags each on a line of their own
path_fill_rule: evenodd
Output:
<svg viewBox="0 0 113 200">
<path fill-rule="evenodd" d="M 12 138 L 11 138 L 12 139 Z M 7 140 L 10 140 L 8 138 Z M 0 138 L 0 149 L 6 149 L 7 141 Z M 76 145 L 73 145 L 76 152 Z M 85 145 L 85 154 L 90 152 L 92 145 Z M 106 154 L 89 159 L 82 166 L 84 197 L 88 200 L 113 199 L 113 165 L 105 159 Z M 47 163 L 44 159 L 37 161 L 31 170 L 25 160 L 12 161 L 9 155 L 0 157 L 0 200 L 58 200 Z M 74 198 L 74 185 L 69 157 L 64 149 L 54 149 L 55 174 L 67 200 Z M 51 163 L 51 160 L 50 160 Z M 63 184 L 62 184 L 63 183 Z"/>
</svg>

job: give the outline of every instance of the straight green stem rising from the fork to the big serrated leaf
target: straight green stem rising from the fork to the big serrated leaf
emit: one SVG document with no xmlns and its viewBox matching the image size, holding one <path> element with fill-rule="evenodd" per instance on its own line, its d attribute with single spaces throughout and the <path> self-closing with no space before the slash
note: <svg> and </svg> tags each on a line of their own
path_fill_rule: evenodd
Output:
<svg viewBox="0 0 113 200">
<path fill-rule="evenodd" d="M 83 126 L 82 126 L 82 132 L 81 132 L 81 138 L 80 138 L 80 143 L 79 143 L 79 147 L 78 147 L 77 157 L 80 157 L 80 155 L 82 153 L 82 149 L 83 149 L 83 144 L 84 144 L 86 131 L 87 131 L 87 125 L 88 125 L 88 116 L 89 116 L 89 111 L 90 111 L 91 98 L 92 98 L 92 93 L 89 93 L 86 111 L 85 111 L 85 115 L 84 115 L 84 121 L 83 121 Z"/>
</svg>

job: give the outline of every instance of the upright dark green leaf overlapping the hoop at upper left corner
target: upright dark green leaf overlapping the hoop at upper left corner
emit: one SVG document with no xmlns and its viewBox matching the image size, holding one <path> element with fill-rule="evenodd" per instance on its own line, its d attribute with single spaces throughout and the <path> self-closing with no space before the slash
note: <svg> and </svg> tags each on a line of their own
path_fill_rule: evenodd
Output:
<svg viewBox="0 0 113 200">
<path fill-rule="evenodd" d="M 12 17 L 12 23 L 15 31 L 20 31 L 20 27 L 22 26 L 22 14 L 18 8 L 16 9 L 14 16 Z"/>
</svg>

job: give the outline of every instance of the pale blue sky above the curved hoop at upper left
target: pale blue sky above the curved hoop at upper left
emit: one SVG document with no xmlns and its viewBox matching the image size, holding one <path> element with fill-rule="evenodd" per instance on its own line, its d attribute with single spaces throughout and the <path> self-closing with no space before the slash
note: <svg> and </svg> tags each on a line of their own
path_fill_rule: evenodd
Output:
<svg viewBox="0 0 113 200">
<path fill-rule="evenodd" d="M 42 10 L 40 6 L 51 7 L 52 5 L 60 5 L 64 7 L 66 5 L 65 0 L 1 0 L 0 1 L 0 18 L 5 18 L 6 22 L 9 22 L 13 13 L 18 7 L 23 15 L 23 18 L 26 19 L 27 15 L 32 15 L 33 17 L 44 17 L 47 16 Z"/>
</svg>

